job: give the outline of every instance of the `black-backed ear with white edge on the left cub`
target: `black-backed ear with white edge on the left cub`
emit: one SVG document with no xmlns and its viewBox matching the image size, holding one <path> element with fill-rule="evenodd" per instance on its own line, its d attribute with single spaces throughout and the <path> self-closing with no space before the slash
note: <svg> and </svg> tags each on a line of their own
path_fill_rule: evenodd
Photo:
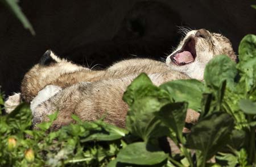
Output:
<svg viewBox="0 0 256 167">
<path fill-rule="evenodd" d="M 44 53 L 44 55 L 39 60 L 40 65 L 50 65 L 56 62 L 60 62 L 61 59 L 57 57 L 50 49 Z"/>
</svg>

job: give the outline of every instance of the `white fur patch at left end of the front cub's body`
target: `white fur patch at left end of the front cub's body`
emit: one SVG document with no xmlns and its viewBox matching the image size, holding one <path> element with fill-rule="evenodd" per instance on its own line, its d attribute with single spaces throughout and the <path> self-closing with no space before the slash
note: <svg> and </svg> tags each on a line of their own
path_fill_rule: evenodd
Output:
<svg viewBox="0 0 256 167">
<path fill-rule="evenodd" d="M 32 114 L 35 115 L 36 108 L 45 101 L 61 91 L 61 87 L 55 85 L 48 85 L 38 92 L 38 95 L 30 103 Z"/>
</svg>

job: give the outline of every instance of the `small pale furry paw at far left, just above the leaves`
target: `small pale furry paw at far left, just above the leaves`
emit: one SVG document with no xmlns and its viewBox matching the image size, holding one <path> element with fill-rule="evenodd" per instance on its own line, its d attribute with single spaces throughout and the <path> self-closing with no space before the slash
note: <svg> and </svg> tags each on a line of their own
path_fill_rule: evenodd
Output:
<svg viewBox="0 0 256 167">
<path fill-rule="evenodd" d="M 10 114 L 22 102 L 20 93 L 10 95 L 5 102 L 5 111 Z"/>
</svg>

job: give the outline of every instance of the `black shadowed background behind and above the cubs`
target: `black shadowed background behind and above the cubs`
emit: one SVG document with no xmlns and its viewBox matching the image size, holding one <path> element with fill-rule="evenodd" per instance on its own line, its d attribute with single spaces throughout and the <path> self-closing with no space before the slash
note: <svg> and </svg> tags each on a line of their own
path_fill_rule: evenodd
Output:
<svg viewBox="0 0 256 167">
<path fill-rule="evenodd" d="M 221 32 L 237 52 L 242 37 L 256 32 L 253 4 L 250 0 L 20 1 L 35 36 L 0 6 L 0 85 L 6 95 L 19 91 L 24 73 L 49 48 L 90 67 L 105 68 L 135 56 L 164 59 L 181 37 L 177 26 Z"/>
</svg>

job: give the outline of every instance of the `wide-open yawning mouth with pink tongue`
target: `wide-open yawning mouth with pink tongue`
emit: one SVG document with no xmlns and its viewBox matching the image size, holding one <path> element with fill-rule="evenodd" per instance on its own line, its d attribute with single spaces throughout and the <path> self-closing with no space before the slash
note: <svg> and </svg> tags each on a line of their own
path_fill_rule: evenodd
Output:
<svg viewBox="0 0 256 167">
<path fill-rule="evenodd" d="M 196 59 L 196 41 L 193 37 L 189 37 L 183 47 L 170 56 L 171 61 L 176 65 L 186 65 Z"/>
</svg>

